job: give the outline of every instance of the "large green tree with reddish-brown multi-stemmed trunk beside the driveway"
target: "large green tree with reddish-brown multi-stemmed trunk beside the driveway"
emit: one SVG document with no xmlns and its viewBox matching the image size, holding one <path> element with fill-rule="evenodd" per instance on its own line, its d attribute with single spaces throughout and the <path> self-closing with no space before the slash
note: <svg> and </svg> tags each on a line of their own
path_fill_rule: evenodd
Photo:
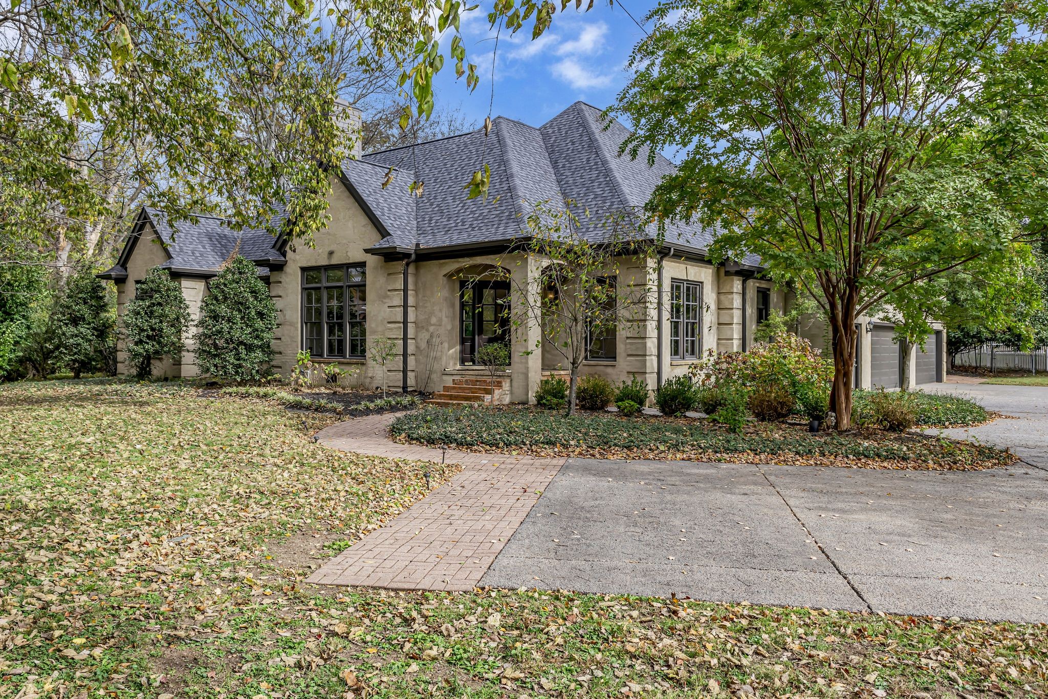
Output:
<svg viewBox="0 0 1048 699">
<path fill-rule="evenodd" d="M 718 226 L 811 292 L 851 422 L 855 319 L 1045 230 L 1044 8 L 997 0 L 738 0 L 651 14 L 617 110 L 634 156 L 681 149 L 650 211 Z"/>
</svg>

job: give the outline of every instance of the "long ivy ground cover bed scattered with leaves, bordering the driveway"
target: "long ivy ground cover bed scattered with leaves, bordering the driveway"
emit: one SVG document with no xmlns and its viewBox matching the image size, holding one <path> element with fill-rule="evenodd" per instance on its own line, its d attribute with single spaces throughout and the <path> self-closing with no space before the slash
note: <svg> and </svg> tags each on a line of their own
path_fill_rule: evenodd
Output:
<svg viewBox="0 0 1048 699">
<path fill-rule="evenodd" d="M 740 402 L 744 410 L 744 395 Z M 424 407 L 399 416 L 390 433 L 406 442 L 538 455 L 956 471 L 1014 461 L 1010 453 L 983 444 L 882 430 L 810 434 L 806 425 L 751 423 L 735 432 L 729 417 L 719 427 L 691 419 L 567 416 L 523 407 Z"/>
</svg>

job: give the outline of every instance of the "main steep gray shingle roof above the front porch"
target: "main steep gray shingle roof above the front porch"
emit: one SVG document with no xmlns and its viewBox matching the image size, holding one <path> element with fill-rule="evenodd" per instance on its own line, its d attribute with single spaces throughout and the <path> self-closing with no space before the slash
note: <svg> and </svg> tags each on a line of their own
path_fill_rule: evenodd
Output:
<svg viewBox="0 0 1048 699">
<path fill-rule="evenodd" d="M 424 249 L 510 239 L 526 233 L 525 216 L 534 204 L 545 201 L 555 206 L 565 198 L 577 203 L 583 234 L 590 239 L 607 235 L 608 216 L 634 215 L 636 221 L 655 187 L 675 166 L 659 153 L 653 167 L 645 152 L 636 159 L 619 156 L 618 148 L 630 132 L 617 121 L 605 126 L 601 110 L 576 102 L 538 128 L 500 116 L 487 137 L 477 129 L 366 154 L 364 162 L 406 171 L 381 195 L 370 195 L 376 202 L 372 209 L 390 233 L 390 239 L 376 248 Z M 485 162 L 492 170 L 487 201 L 467 200 L 462 185 Z M 368 171 L 354 163 L 344 168 L 344 174 L 371 201 L 365 193 Z M 399 207 L 384 216 L 379 210 L 389 209 L 384 200 L 395 199 L 402 205 L 400 194 L 414 178 L 424 183 L 421 198 L 409 197 L 415 216 Z M 583 210 L 589 211 L 588 217 Z M 655 226 L 649 232 L 654 236 Z M 665 242 L 706 250 L 713 235 L 697 223 L 674 222 L 667 227 Z"/>
</svg>

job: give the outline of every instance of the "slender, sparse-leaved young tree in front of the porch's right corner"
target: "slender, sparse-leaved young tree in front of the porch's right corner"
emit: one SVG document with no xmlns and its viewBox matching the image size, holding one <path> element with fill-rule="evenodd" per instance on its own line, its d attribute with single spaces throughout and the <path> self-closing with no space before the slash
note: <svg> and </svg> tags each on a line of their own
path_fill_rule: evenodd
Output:
<svg viewBox="0 0 1048 699">
<path fill-rule="evenodd" d="M 571 415 L 578 373 L 594 343 L 654 316 L 650 262 L 656 243 L 635 212 L 596 217 L 570 199 L 560 205 L 536 204 L 526 223 L 527 239 L 500 258 L 498 266 L 510 269 L 527 259 L 543 266 L 523 280 L 503 274 L 512 291 L 506 313 L 515 328 L 540 329 L 540 345 L 526 352 L 549 347 L 567 366 Z"/>
</svg>

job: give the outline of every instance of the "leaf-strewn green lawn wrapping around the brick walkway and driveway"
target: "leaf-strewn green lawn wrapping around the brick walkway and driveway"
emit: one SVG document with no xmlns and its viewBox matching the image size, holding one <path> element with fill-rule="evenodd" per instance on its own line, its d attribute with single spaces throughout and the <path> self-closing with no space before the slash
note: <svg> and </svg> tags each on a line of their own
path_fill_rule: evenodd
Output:
<svg viewBox="0 0 1048 699">
<path fill-rule="evenodd" d="M 334 419 L 177 385 L 0 386 L 0 698 L 1048 689 L 1045 626 L 304 586 L 304 551 L 423 495 L 420 464 L 313 444 Z"/>
</svg>

